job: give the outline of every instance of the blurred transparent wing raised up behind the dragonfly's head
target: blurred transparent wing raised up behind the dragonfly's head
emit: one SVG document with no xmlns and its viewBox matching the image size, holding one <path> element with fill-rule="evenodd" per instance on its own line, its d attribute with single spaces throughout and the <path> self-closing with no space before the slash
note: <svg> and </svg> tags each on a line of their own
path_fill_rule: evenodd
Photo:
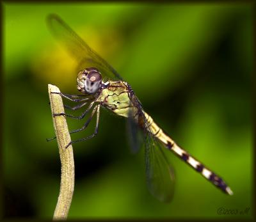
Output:
<svg viewBox="0 0 256 222">
<path fill-rule="evenodd" d="M 77 61 L 77 70 L 86 67 L 97 68 L 103 77 L 112 80 L 122 80 L 122 77 L 97 52 L 93 51 L 58 15 L 47 17 L 47 24 L 55 38 L 67 48 Z"/>
</svg>

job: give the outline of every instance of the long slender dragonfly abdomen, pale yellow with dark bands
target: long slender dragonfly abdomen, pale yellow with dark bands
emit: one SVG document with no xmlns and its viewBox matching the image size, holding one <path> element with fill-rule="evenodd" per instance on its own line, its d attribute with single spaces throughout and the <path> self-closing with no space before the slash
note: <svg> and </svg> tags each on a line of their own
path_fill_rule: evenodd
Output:
<svg viewBox="0 0 256 222">
<path fill-rule="evenodd" d="M 172 150 L 174 154 L 176 154 L 180 159 L 185 161 L 189 164 L 193 169 L 198 171 L 203 177 L 207 178 L 212 184 L 214 184 L 216 187 L 220 188 L 222 191 L 224 191 L 227 194 L 232 195 L 232 191 L 230 187 L 227 186 L 227 184 L 222 180 L 221 177 L 213 173 L 211 170 L 206 168 L 202 163 L 197 161 L 194 157 L 192 157 L 186 150 L 182 149 L 173 141 L 170 136 L 168 136 L 152 119 L 151 116 L 149 116 L 147 113 L 144 112 L 145 117 L 147 118 L 148 127 L 150 128 L 150 133 L 153 134 L 153 136 L 161 143 L 165 145 L 168 150 Z"/>
</svg>

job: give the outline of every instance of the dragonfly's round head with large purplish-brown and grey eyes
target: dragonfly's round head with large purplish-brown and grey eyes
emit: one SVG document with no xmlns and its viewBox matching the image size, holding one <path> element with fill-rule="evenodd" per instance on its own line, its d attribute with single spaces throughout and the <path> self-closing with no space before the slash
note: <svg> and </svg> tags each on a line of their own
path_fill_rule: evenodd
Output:
<svg viewBox="0 0 256 222">
<path fill-rule="evenodd" d="M 102 76 L 97 68 L 85 68 L 77 75 L 77 90 L 81 93 L 96 93 L 101 85 Z"/>
</svg>

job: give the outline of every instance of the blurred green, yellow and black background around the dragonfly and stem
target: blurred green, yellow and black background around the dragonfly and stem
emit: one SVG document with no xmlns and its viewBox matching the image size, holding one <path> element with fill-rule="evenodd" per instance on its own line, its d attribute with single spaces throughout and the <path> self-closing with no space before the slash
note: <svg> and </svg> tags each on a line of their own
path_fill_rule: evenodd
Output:
<svg viewBox="0 0 256 222">
<path fill-rule="evenodd" d="M 72 59 L 45 24 L 49 13 L 106 58 L 156 122 L 234 191 L 223 194 L 170 153 L 175 194 L 158 202 L 147 191 L 143 151 L 129 150 L 125 119 L 101 109 L 98 136 L 74 145 L 68 218 L 252 216 L 250 4 L 4 4 L 3 11 L 5 218 L 51 218 L 58 198 L 58 147 L 45 141 L 54 136 L 47 84 L 77 91 Z M 220 216 L 220 207 L 250 210 Z"/>
</svg>

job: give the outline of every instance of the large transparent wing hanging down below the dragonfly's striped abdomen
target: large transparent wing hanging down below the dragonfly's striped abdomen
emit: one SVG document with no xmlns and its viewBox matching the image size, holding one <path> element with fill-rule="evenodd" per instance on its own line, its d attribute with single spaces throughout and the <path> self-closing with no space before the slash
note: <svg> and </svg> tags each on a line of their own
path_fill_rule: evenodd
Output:
<svg viewBox="0 0 256 222">
<path fill-rule="evenodd" d="M 170 202 L 174 193 L 174 171 L 164 154 L 163 145 L 152 136 L 150 123 L 143 114 L 140 102 L 134 96 L 134 106 L 138 107 L 138 125 L 145 136 L 145 170 L 150 193 L 162 202 Z"/>
</svg>

